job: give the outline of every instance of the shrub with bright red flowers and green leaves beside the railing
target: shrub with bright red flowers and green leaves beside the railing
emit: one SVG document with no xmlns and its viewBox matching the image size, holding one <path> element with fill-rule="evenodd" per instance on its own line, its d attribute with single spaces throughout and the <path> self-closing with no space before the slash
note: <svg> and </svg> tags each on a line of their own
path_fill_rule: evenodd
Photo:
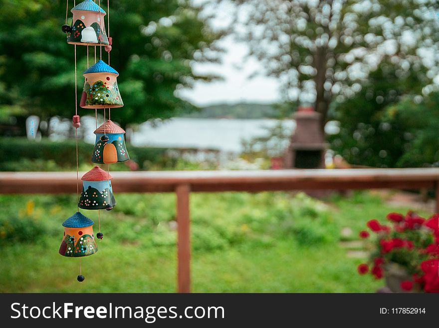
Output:
<svg viewBox="0 0 439 328">
<path fill-rule="evenodd" d="M 370 220 L 367 227 L 376 234 L 368 264 L 360 264 L 358 273 L 371 273 L 376 279 L 386 274 L 386 268 L 397 264 L 404 268 L 409 280 L 401 282 L 403 291 L 439 293 L 439 214 L 426 220 L 414 212 L 407 215 L 390 213 L 390 225 Z M 368 239 L 364 230 L 360 237 Z"/>
</svg>

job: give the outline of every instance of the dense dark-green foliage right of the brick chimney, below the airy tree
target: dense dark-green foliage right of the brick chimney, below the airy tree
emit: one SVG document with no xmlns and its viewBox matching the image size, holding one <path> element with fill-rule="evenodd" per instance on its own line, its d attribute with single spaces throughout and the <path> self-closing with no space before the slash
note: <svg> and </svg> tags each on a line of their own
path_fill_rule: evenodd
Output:
<svg viewBox="0 0 439 328">
<path fill-rule="evenodd" d="M 331 148 L 351 164 L 438 166 L 439 93 L 422 97 L 417 71 L 399 78 L 392 65 L 382 66 L 355 97 L 336 104 L 341 128 L 329 137 Z"/>
</svg>

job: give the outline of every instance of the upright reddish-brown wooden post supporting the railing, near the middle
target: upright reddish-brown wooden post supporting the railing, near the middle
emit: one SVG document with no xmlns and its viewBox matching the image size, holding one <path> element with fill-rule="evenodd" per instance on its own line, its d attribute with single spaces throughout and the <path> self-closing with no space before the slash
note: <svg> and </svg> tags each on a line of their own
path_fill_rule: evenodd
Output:
<svg viewBox="0 0 439 328">
<path fill-rule="evenodd" d="M 178 293 L 191 292 L 191 219 L 189 216 L 189 184 L 177 185 L 177 252 Z"/>
</svg>

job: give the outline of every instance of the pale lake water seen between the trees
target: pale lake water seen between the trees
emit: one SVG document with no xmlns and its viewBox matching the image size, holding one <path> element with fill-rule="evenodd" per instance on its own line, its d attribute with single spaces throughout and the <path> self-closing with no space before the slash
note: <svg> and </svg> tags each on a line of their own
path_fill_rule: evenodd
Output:
<svg viewBox="0 0 439 328">
<path fill-rule="evenodd" d="M 66 138 L 62 133 L 68 131 L 70 120 L 51 122 L 53 140 Z M 99 119 L 98 126 L 103 122 Z M 221 152 L 239 153 L 243 150 L 242 141 L 255 137 L 266 136 L 269 129 L 279 123 L 291 135 L 296 123 L 292 119 L 229 119 L 229 118 L 183 118 L 148 121 L 132 133 L 131 142 L 136 146 L 215 149 Z M 81 117 L 79 131 L 86 142 L 94 143 L 95 118 Z M 336 133 L 338 124 L 329 122 L 326 133 Z M 83 133 L 83 134 L 82 134 Z M 129 133 L 129 131 L 127 131 Z"/>
</svg>

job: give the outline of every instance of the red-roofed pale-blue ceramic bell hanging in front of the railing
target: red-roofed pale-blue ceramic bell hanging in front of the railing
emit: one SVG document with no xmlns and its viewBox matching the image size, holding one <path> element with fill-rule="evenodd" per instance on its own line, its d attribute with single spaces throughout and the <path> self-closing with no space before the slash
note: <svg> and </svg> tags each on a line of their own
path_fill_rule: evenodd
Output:
<svg viewBox="0 0 439 328">
<path fill-rule="evenodd" d="M 82 193 L 79 208 L 85 210 L 111 210 L 116 206 L 111 185 L 113 177 L 95 166 L 82 176 Z"/>
</svg>

